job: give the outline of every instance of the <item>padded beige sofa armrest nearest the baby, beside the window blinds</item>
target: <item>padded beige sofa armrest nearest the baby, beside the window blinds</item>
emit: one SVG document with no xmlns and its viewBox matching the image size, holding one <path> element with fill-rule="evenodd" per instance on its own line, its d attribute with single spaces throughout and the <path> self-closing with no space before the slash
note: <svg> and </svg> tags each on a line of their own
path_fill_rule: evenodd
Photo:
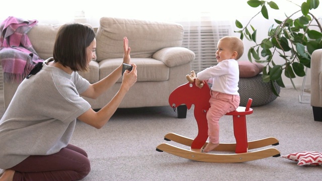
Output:
<svg viewBox="0 0 322 181">
<path fill-rule="evenodd" d="M 195 57 L 196 55 L 193 51 L 184 47 L 163 48 L 152 55 L 152 58 L 163 61 L 169 67 L 189 63 Z"/>
</svg>

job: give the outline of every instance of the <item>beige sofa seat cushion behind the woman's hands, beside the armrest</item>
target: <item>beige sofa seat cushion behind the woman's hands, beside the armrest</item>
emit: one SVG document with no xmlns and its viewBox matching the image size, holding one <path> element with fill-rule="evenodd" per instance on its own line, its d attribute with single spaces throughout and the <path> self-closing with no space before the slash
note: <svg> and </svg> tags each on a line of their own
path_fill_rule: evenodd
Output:
<svg viewBox="0 0 322 181">
<path fill-rule="evenodd" d="M 99 62 L 100 79 L 109 75 L 122 64 L 123 58 L 105 59 Z M 169 79 L 170 67 L 153 58 L 131 58 L 137 66 L 137 81 L 166 81 Z M 122 82 L 122 77 L 117 81 Z"/>
</svg>

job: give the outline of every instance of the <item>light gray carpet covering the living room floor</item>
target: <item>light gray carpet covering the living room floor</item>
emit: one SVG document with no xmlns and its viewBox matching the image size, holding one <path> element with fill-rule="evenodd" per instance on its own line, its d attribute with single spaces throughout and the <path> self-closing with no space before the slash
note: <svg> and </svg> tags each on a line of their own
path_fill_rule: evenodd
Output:
<svg viewBox="0 0 322 181">
<path fill-rule="evenodd" d="M 272 103 L 253 107 L 254 113 L 247 116 L 249 141 L 276 137 L 280 144 L 274 147 L 281 155 L 306 150 L 322 152 L 322 122 L 313 121 L 312 108 L 299 103 L 299 94 L 292 88 L 282 88 L 280 97 Z M 243 163 L 206 163 L 157 152 L 156 146 L 163 142 L 187 148 L 165 141 L 168 132 L 196 136 L 193 108 L 188 110 L 186 119 L 176 116 L 170 106 L 119 109 L 100 130 L 78 122 L 71 143 L 85 149 L 92 164 L 90 174 L 83 180 L 320 180 L 322 177 L 322 166 L 298 166 L 282 157 Z M 234 142 L 231 116 L 220 120 L 220 142 Z"/>
</svg>

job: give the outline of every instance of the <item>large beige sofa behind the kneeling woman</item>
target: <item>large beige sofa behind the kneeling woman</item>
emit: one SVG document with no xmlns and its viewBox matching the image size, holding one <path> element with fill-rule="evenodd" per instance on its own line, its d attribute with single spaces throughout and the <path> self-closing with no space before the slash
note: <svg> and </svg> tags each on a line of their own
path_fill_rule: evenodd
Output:
<svg viewBox="0 0 322 181">
<path fill-rule="evenodd" d="M 38 24 L 28 37 L 40 58 L 52 57 L 59 25 Z M 91 83 L 111 73 L 122 63 L 123 37 L 128 37 L 131 62 L 137 65 L 137 82 L 130 89 L 120 108 L 169 106 L 169 95 L 187 82 L 195 54 L 181 47 L 184 29 L 181 25 L 133 19 L 103 17 L 97 29 L 97 60 L 91 61 L 89 72 L 79 72 Z M 85 98 L 93 109 L 105 106 L 117 93 L 122 77 L 98 99 Z M 5 108 L 8 107 L 20 82 L 4 82 Z"/>
</svg>

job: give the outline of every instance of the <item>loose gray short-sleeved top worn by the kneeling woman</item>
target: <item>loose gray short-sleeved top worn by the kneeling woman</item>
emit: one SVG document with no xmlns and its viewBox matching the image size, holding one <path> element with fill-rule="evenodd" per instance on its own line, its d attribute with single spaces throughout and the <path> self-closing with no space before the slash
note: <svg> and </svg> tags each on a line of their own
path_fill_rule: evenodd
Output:
<svg viewBox="0 0 322 181">
<path fill-rule="evenodd" d="M 0 168 L 11 168 L 30 155 L 49 155 L 65 147 L 76 118 L 91 108 L 79 94 L 90 83 L 43 64 L 19 85 L 0 120 Z"/>
</svg>

